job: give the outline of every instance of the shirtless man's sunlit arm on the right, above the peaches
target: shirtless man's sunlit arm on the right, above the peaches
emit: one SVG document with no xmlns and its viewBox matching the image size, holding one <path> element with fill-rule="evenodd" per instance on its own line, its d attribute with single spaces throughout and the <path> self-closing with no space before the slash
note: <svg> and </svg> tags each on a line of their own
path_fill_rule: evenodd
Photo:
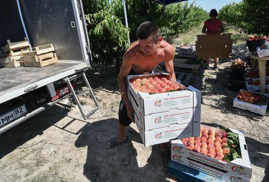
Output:
<svg viewBox="0 0 269 182">
<path fill-rule="evenodd" d="M 176 80 L 173 63 L 174 57 L 175 57 L 175 49 L 172 45 L 169 45 L 165 54 L 164 65 L 167 73 L 171 75 L 172 79 Z"/>
</svg>

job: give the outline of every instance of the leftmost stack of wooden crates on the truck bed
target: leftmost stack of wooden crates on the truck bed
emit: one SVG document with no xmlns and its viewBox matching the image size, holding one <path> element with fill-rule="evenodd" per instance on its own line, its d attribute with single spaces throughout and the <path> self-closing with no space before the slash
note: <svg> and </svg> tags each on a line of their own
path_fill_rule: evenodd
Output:
<svg viewBox="0 0 269 182">
<path fill-rule="evenodd" d="M 0 67 L 16 68 L 22 66 L 20 59 L 22 49 L 29 48 L 29 43 L 25 41 L 11 43 L 7 40 L 7 45 L 0 51 Z"/>
</svg>

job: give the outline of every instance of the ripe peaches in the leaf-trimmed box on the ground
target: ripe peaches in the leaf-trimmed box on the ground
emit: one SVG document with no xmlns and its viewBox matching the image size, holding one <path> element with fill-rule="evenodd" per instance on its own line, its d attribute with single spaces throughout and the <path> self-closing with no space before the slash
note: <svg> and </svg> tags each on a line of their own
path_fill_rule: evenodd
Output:
<svg viewBox="0 0 269 182">
<path fill-rule="evenodd" d="M 227 140 L 227 133 L 215 133 L 214 130 L 208 130 L 202 127 L 200 128 L 200 137 L 181 139 L 188 150 L 224 162 L 227 162 L 223 159 L 225 154 L 231 153 L 231 151 L 226 148 L 228 147 Z"/>
</svg>

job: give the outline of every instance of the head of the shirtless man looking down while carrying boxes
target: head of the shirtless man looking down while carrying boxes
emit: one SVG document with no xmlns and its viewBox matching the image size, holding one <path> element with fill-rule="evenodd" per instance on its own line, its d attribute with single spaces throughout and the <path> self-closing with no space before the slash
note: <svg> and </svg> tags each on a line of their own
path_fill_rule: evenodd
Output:
<svg viewBox="0 0 269 182">
<path fill-rule="evenodd" d="M 161 43 L 160 29 L 156 23 L 141 23 L 136 30 L 136 37 L 142 51 L 146 55 L 152 55 L 157 50 L 157 45 Z"/>
</svg>

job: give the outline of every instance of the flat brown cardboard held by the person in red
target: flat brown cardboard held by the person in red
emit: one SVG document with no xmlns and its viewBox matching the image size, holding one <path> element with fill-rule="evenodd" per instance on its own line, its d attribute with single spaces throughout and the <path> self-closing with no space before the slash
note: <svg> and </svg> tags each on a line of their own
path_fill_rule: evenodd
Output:
<svg viewBox="0 0 269 182">
<path fill-rule="evenodd" d="M 219 35 L 197 35 L 196 54 L 198 58 L 229 58 L 232 52 L 231 33 Z"/>
</svg>

